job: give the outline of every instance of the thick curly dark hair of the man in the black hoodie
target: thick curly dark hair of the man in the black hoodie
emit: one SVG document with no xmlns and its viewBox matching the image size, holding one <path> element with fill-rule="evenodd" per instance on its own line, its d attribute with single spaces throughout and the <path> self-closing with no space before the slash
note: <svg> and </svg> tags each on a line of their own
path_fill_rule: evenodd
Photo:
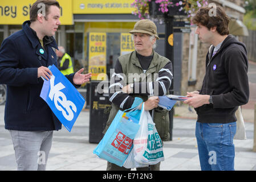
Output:
<svg viewBox="0 0 256 182">
<path fill-rule="evenodd" d="M 210 16 L 209 11 L 216 8 L 216 15 Z M 216 27 L 216 30 L 220 35 L 229 34 L 229 16 L 226 15 L 224 9 L 221 6 L 216 7 L 202 7 L 193 17 L 194 24 L 201 24 L 207 27 L 209 30 L 212 27 Z"/>
</svg>

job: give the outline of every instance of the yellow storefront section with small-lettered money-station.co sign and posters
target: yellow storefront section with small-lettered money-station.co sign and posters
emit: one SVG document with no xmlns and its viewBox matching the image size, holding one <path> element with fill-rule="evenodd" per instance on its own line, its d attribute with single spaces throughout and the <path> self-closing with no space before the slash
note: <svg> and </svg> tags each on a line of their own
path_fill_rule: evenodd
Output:
<svg viewBox="0 0 256 182">
<path fill-rule="evenodd" d="M 92 80 L 107 80 L 117 57 L 133 50 L 128 32 L 138 19 L 132 15 L 132 2 L 73 1 L 74 60 L 78 67 L 92 72 Z M 66 45 L 71 47 L 72 43 Z M 100 77 L 100 73 L 107 73 L 107 77 Z"/>
</svg>

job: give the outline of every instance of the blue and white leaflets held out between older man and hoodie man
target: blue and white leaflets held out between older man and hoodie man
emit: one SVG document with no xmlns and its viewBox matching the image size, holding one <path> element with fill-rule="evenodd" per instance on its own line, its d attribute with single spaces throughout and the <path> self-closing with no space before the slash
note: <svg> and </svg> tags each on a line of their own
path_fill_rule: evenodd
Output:
<svg viewBox="0 0 256 182">
<path fill-rule="evenodd" d="M 159 96 L 159 106 L 164 109 L 171 110 L 177 101 L 185 101 L 187 99 L 188 97 L 177 95 Z"/>
</svg>

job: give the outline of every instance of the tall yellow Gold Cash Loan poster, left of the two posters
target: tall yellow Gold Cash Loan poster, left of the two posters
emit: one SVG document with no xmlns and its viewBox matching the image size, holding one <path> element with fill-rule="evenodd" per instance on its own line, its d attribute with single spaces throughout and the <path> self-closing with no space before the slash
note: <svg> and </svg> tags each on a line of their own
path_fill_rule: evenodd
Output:
<svg viewBox="0 0 256 182">
<path fill-rule="evenodd" d="M 92 73 L 91 80 L 106 80 L 106 39 L 106 33 L 90 32 L 89 34 L 89 71 Z"/>
</svg>

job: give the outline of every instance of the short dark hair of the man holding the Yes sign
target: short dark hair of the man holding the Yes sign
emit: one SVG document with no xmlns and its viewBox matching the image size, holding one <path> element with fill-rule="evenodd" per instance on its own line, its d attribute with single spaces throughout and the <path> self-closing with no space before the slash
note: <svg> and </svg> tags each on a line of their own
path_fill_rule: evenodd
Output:
<svg viewBox="0 0 256 182">
<path fill-rule="evenodd" d="M 39 11 L 42 9 L 42 6 L 38 4 L 43 3 L 45 5 L 45 18 L 47 19 L 47 15 L 49 14 L 50 6 L 57 6 L 60 9 L 59 2 L 55 0 L 37 0 L 30 9 L 30 22 L 34 22 L 38 16 L 39 13 L 42 11 Z M 39 12 L 38 12 L 39 11 Z"/>
</svg>

